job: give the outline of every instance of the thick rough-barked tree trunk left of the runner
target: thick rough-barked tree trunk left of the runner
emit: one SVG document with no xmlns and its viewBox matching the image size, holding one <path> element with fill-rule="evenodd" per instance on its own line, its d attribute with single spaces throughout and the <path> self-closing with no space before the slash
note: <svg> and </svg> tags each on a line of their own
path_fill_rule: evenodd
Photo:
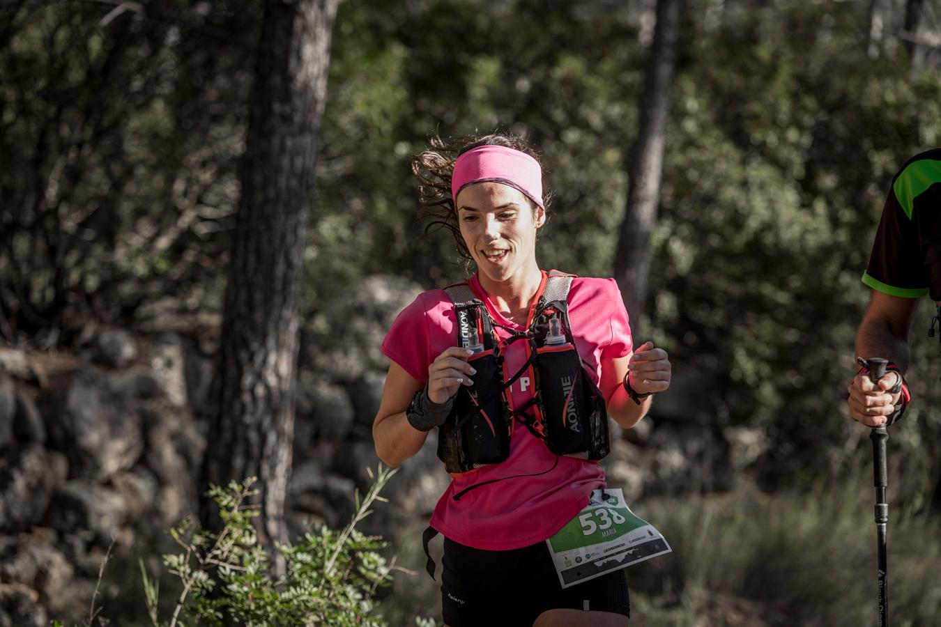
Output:
<svg viewBox="0 0 941 627">
<path fill-rule="evenodd" d="M 258 478 L 259 540 L 286 541 L 297 306 L 338 0 L 266 0 L 201 485 Z M 204 498 L 204 497 L 203 497 Z M 215 505 L 201 518 L 218 528 Z M 277 552 L 274 572 L 283 572 Z"/>
</svg>

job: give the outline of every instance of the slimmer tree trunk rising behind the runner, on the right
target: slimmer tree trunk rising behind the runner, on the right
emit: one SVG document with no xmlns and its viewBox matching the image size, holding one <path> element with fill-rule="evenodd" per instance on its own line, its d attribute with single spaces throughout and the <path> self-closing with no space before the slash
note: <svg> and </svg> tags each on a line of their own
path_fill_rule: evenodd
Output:
<svg viewBox="0 0 941 627">
<path fill-rule="evenodd" d="M 628 168 L 628 206 L 621 223 L 614 258 L 614 276 L 631 316 L 639 329 L 650 272 L 650 233 L 657 222 L 663 144 L 669 107 L 670 84 L 676 65 L 679 16 L 683 0 L 658 0 L 657 25 L 646 64 L 644 93 L 640 102 L 637 142 Z"/>
</svg>

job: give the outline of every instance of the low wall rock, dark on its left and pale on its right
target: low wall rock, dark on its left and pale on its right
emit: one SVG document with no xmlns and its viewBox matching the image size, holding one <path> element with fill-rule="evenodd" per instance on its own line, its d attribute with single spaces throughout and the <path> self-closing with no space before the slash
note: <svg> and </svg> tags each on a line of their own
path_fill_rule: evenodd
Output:
<svg viewBox="0 0 941 627">
<path fill-rule="evenodd" d="M 87 529 L 93 540 L 107 546 L 120 535 L 127 505 L 120 492 L 88 479 L 74 479 L 56 488 L 49 506 L 49 523 L 65 536 Z"/>
</svg>

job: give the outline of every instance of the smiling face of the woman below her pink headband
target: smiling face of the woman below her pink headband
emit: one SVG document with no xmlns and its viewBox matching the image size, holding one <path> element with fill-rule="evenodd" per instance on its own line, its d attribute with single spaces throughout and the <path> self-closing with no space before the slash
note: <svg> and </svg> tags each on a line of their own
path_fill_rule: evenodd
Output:
<svg viewBox="0 0 941 627">
<path fill-rule="evenodd" d="M 468 185 L 456 201 L 461 236 L 480 272 L 497 282 L 525 276 L 535 265 L 535 231 L 546 211 L 534 212 L 518 189 L 492 181 Z"/>
</svg>

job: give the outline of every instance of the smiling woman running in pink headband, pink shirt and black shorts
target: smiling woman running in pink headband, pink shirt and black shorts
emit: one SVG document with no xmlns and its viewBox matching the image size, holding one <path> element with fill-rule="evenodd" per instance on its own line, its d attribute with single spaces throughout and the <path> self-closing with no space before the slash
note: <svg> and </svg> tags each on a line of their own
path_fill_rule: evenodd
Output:
<svg viewBox="0 0 941 627">
<path fill-rule="evenodd" d="M 636 424 L 650 408 L 649 395 L 670 384 L 667 353 L 651 342 L 632 350 L 614 279 L 559 278 L 539 268 L 542 170 L 521 139 L 435 138 L 412 168 L 423 213 L 451 230 L 460 254 L 477 268 L 456 293 L 479 305 L 430 290 L 393 322 L 382 343 L 391 366 L 373 426 L 376 454 L 393 467 L 440 427 L 439 457 L 453 479 L 430 529 L 444 536 L 444 621 L 623 627 L 630 616 L 624 571 L 563 589 L 546 540 L 605 486 L 593 458 L 598 446 L 606 452 L 607 436 L 599 445 L 585 415 L 606 421 L 606 410 L 624 428 Z M 553 298 L 564 305 L 547 306 Z M 576 366 L 558 366 L 556 377 L 552 368 L 562 362 L 552 360 L 576 354 L 570 339 Z M 559 437 L 589 430 L 592 450 L 571 452 L 573 445 L 559 454 L 567 446 Z M 462 437 L 447 435 L 454 432 Z"/>
</svg>

